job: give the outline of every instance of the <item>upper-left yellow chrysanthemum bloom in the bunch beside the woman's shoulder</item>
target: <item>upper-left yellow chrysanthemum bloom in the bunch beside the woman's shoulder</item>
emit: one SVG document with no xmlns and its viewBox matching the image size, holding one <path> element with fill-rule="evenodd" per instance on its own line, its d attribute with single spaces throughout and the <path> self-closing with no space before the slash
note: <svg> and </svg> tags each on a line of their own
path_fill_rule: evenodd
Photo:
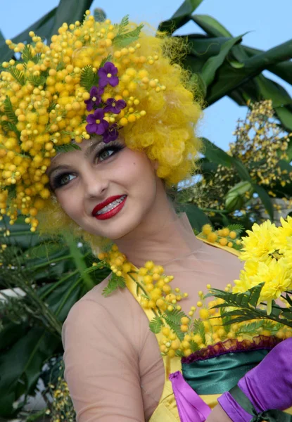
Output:
<svg viewBox="0 0 292 422">
<path fill-rule="evenodd" d="M 278 236 L 278 228 L 269 220 L 261 224 L 253 224 L 252 230 L 248 230 L 248 236 L 242 238 L 243 250 L 241 260 L 265 261 L 269 254 L 275 250 L 275 239 Z"/>
</svg>

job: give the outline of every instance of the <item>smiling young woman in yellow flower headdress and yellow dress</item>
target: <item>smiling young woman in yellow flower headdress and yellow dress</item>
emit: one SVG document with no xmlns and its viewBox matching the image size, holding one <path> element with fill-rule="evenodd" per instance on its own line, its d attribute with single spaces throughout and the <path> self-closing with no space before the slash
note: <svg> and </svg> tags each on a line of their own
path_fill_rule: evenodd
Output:
<svg viewBox="0 0 292 422">
<path fill-rule="evenodd" d="M 89 13 L 82 25 L 64 24 L 50 45 L 30 35 L 30 47 L 7 41 L 22 60 L 3 63 L 1 72 L 1 213 L 13 224 L 20 210 L 32 231 L 43 214 L 43 230 L 67 225 L 97 252 L 115 243 L 121 253 L 113 268 L 122 269 L 115 276 L 125 275 L 127 287 L 105 297 L 106 279 L 65 321 L 65 379 L 77 421 L 237 421 L 233 396 L 223 397 L 224 411 L 210 413 L 192 390 L 193 409 L 182 407 L 169 380 L 180 373 L 180 357 L 174 347 L 162 357 L 148 326 L 166 303 L 180 307 L 184 296 L 187 313 L 198 292 L 209 284 L 224 288 L 241 269 L 236 257 L 199 241 L 167 197 L 168 186 L 191 176 L 200 146 L 196 86 L 172 64 L 184 44 L 153 37 L 127 18 L 96 23 Z M 166 286 L 170 278 L 158 288 L 153 275 L 148 297 L 141 293 L 130 269 L 143 267 L 143 277 L 154 271 L 152 261 L 158 279 L 174 276 L 178 290 Z M 184 395 L 189 385 L 180 385 Z M 211 387 L 212 397 L 203 399 L 213 407 L 220 394 Z M 256 411 L 269 409 L 246 396 Z M 280 400 L 275 407 L 288 406 Z"/>
</svg>

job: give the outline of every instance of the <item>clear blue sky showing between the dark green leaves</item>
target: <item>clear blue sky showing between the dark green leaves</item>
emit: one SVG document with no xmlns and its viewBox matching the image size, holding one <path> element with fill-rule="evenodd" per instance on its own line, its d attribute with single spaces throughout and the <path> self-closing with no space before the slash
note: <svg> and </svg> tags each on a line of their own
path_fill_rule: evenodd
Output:
<svg viewBox="0 0 292 422">
<path fill-rule="evenodd" d="M 122 16 L 129 14 L 132 20 L 146 20 L 157 27 L 181 4 L 182 0 L 94 0 L 91 9 L 102 8 L 113 22 L 119 22 Z M 1 0 L 0 29 L 4 37 L 11 38 L 25 30 L 57 5 L 58 0 Z M 258 49 L 271 49 L 291 38 L 291 0 L 203 0 L 196 13 L 212 15 L 234 36 L 248 32 L 243 42 Z M 200 28 L 189 23 L 178 33 L 198 32 L 202 32 Z M 278 80 L 269 72 L 266 75 Z M 291 86 L 283 85 L 292 95 Z M 246 108 L 237 106 L 229 98 L 222 98 L 205 110 L 199 134 L 227 150 L 229 142 L 234 140 L 232 132 L 236 120 L 245 114 Z"/>
</svg>

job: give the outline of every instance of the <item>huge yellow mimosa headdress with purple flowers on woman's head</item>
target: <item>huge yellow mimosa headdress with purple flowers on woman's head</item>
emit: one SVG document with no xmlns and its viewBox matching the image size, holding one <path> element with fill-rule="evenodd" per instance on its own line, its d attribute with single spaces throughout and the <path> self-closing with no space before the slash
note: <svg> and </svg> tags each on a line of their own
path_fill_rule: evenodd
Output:
<svg viewBox="0 0 292 422">
<path fill-rule="evenodd" d="M 90 136 L 107 143 L 121 131 L 170 184 L 190 174 L 201 109 L 182 83 L 186 72 L 170 61 L 182 49 L 142 27 L 127 17 L 99 23 L 87 11 L 82 24 L 64 23 L 51 44 L 33 32 L 31 44 L 6 41 L 20 53 L 0 67 L 0 213 L 11 224 L 20 212 L 36 230 L 51 200 L 51 158 Z"/>
</svg>

